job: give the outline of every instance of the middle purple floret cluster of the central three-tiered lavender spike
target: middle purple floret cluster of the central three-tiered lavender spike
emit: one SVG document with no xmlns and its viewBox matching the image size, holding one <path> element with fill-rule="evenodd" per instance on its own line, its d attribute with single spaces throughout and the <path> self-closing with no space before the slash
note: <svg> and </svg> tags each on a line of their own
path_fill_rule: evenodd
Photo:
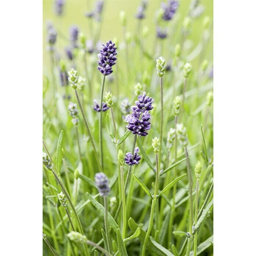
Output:
<svg viewBox="0 0 256 256">
<path fill-rule="evenodd" d="M 146 136 L 148 131 L 151 127 L 151 122 L 149 122 L 150 114 L 149 111 L 145 111 L 141 115 L 140 113 L 133 112 L 132 114 L 128 114 L 125 118 L 125 120 L 128 122 L 128 125 L 126 125 L 127 129 L 131 131 L 133 134 L 138 134 L 138 136 Z"/>
</svg>

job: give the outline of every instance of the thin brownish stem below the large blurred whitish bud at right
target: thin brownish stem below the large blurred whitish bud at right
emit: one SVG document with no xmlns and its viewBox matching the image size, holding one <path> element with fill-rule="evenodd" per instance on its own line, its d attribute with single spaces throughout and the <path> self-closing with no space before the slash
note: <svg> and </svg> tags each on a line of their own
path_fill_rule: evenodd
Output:
<svg viewBox="0 0 256 256">
<path fill-rule="evenodd" d="M 192 225 L 193 225 L 193 194 L 192 194 L 192 174 L 191 174 L 191 166 L 188 156 L 188 150 L 185 147 L 185 155 L 186 155 L 186 162 L 188 168 L 188 184 L 189 184 L 189 233 L 192 234 Z M 191 250 L 191 242 L 192 237 L 188 238 L 188 245 L 186 250 L 186 256 L 189 256 L 189 252 Z"/>
</svg>

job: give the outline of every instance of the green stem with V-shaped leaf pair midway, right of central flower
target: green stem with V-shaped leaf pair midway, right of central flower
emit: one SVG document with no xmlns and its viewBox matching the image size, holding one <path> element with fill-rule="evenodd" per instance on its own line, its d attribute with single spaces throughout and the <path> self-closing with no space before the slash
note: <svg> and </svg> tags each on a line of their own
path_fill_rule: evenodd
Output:
<svg viewBox="0 0 256 256">
<path fill-rule="evenodd" d="M 155 207 L 155 204 L 156 204 L 156 200 L 157 200 L 156 195 L 157 195 L 157 191 L 158 191 L 158 174 L 159 174 L 158 157 L 157 157 L 157 153 L 156 153 L 156 182 L 155 182 L 155 189 L 154 189 L 154 198 L 152 200 L 152 206 L 151 206 L 151 211 L 150 211 L 149 227 L 147 228 L 145 240 L 144 240 L 144 243 L 143 243 L 143 246 L 142 246 L 142 256 L 145 256 L 147 241 L 149 239 L 149 235 L 150 235 L 151 229 L 153 227 L 154 207 Z"/>
</svg>

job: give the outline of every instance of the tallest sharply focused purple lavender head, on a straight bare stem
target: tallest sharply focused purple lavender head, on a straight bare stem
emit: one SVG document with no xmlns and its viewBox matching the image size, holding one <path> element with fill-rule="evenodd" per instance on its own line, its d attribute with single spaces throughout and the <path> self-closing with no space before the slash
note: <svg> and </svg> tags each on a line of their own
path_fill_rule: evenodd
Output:
<svg viewBox="0 0 256 256">
<path fill-rule="evenodd" d="M 109 42 L 106 42 L 106 45 L 102 45 L 102 50 L 100 50 L 100 53 L 98 54 L 100 59 L 98 61 L 98 70 L 103 75 L 110 75 L 113 72 L 112 66 L 115 65 L 115 61 L 117 60 L 115 57 L 115 55 L 117 55 L 117 47 L 114 46 L 115 44 L 109 40 Z"/>
</svg>

